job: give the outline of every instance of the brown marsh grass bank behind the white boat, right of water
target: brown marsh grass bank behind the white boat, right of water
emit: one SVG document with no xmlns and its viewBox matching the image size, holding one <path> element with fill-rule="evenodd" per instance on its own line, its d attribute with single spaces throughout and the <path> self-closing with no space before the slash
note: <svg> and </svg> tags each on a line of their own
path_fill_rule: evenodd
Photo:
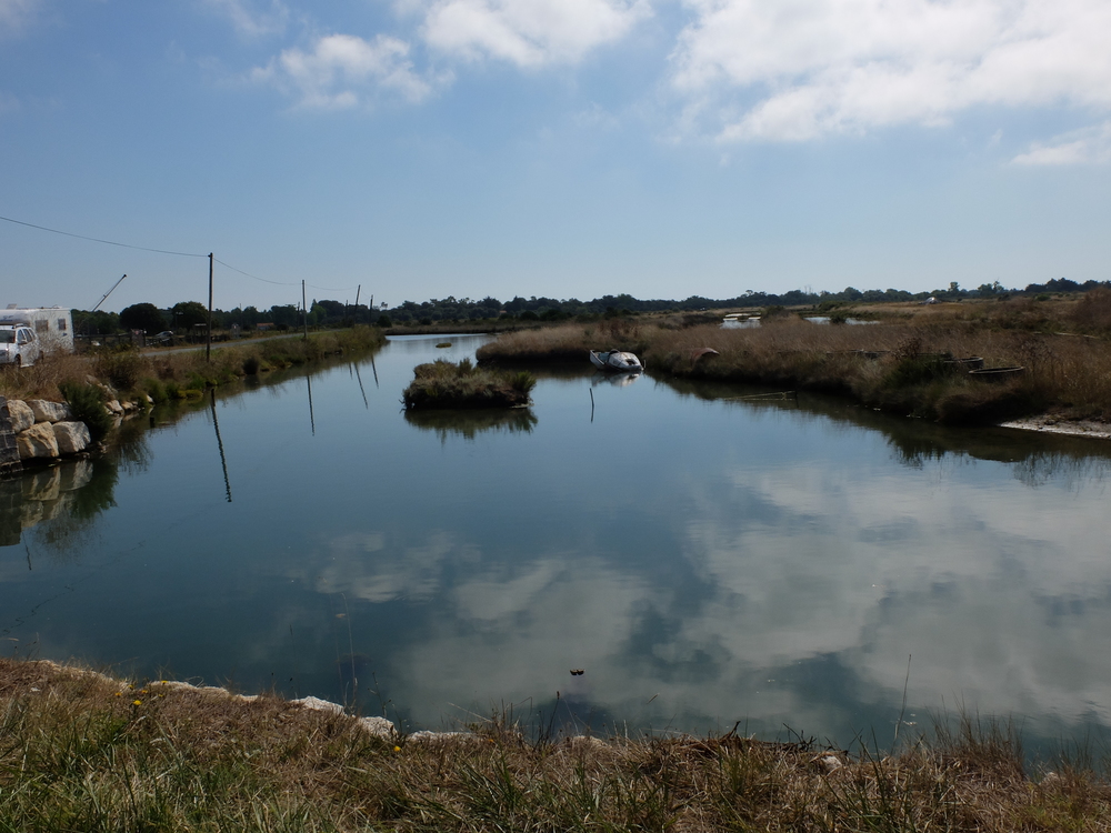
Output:
<svg viewBox="0 0 1111 833">
<path fill-rule="evenodd" d="M 1019 300 L 875 309 L 880 320 L 861 327 L 813 324 L 794 314 L 734 330 L 563 325 L 501 337 L 479 358 L 584 362 L 587 350 L 617 345 L 639 353 L 650 372 L 848 394 L 950 424 L 1044 412 L 1111 420 L 1111 293 L 1057 305 Z M 972 357 L 987 368 L 1022 371 L 990 382 L 951 361 Z"/>
</svg>

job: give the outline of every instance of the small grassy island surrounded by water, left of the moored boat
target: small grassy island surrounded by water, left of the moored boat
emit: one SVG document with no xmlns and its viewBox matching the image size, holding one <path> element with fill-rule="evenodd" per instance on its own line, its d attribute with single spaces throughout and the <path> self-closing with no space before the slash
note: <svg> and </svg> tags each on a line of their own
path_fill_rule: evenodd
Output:
<svg viewBox="0 0 1111 833">
<path fill-rule="evenodd" d="M 531 373 L 476 368 L 470 359 L 418 364 L 413 375 L 404 391 L 407 410 L 518 408 L 529 404 L 537 383 Z"/>
</svg>

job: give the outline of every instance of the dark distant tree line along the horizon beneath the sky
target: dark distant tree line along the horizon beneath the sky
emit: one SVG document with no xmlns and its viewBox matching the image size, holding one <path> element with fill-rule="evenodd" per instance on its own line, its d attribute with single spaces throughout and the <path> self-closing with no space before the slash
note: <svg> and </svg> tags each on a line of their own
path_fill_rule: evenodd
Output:
<svg viewBox="0 0 1111 833">
<path fill-rule="evenodd" d="M 630 294 L 602 295 L 592 301 L 577 298 L 521 298 L 510 301 L 486 297 L 477 301 L 469 298 L 448 295 L 417 303 L 404 301 L 397 307 L 368 307 L 347 304 L 340 301 L 313 300 L 309 304 L 308 321 L 299 304 L 280 304 L 268 310 L 254 307 L 237 307 L 233 310 L 213 310 L 213 330 L 263 329 L 289 330 L 308 323 L 309 327 L 351 327 L 353 324 L 377 324 L 389 327 L 400 324 L 431 324 L 438 321 L 468 322 L 499 318 L 516 318 L 521 321 L 562 321 L 570 318 L 613 317 L 638 312 L 699 312 L 703 310 L 734 309 L 739 307 L 834 307 L 853 303 L 883 303 L 894 301 L 959 301 L 965 298 L 1005 298 L 1012 294 L 1042 295 L 1049 293 L 1085 292 L 1098 287 L 1111 288 L 1111 281 L 1084 281 L 1077 283 L 1068 278 L 1058 278 L 1045 283 L 1030 283 L 1025 289 L 1008 289 L 999 281 L 982 283 L 977 289 L 961 289 L 957 282 L 948 289 L 932 292 L 908 292 L 901 289 L 858 290 L 845 287 L 840 292 L 808 292 L 801 289 L 777 294 L 749 290 L 735 298 L 712 299 L 691 295 L 682 301 L 641 300 Z M 189 333 L 208 323 L 208 309 L 198 301 L 182 301 L 167 309 L 152 303 L 137 303 L 116 312 L 73 311 L 73 327 L 80 334 L 97 335 L 141 330 L 149 335 L 170 330 Z"/>
</svg>

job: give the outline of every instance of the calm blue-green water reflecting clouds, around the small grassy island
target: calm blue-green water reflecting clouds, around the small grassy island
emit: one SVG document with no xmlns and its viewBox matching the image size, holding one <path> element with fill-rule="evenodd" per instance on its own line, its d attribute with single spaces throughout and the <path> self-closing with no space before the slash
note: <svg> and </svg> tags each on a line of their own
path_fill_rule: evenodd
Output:
<svg viewBox="0 0 1111 833">
<path fill-rule="evenodd" d="M 530 412 L 411 419 L 413 365 L 482 341 L 442 340 L 3 484 L 7 650 L 407 727 L 559 692 L 559 722 L 595 731 L 884 744 L 904 683 L 922 729 L 961 707 L 1034 736 L 1111 721 L 1108 445 L 622 387 L 585 361 Z"/>
</svg>

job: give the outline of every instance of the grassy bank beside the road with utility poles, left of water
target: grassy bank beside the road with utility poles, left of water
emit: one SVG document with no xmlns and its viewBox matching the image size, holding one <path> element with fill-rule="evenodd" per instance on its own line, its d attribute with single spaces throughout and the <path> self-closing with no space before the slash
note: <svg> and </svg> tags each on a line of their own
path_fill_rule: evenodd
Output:
<svg viewBox="0 0 1111 833">
<path fill-rule="evenodd" d="M 371 350 L 384 342 L 381 330 L 357 327 L 313 333 L 308 339 L 221 347 L 212 351 L 210 361 L 203 350 L 141 353 L 132 348 L 102 348 L 83 354 L 50 355 L 20 370 L 4 368 L 0 371 L 0 394 L 9 399 L 69 401 L 82 415 L 99 408 L 107 395 L 91 381 L 111 387 L 120 399 L 149 395 L 161 403 L 199 397 L 208 388 L 247 375 Z"/>
</svg>

